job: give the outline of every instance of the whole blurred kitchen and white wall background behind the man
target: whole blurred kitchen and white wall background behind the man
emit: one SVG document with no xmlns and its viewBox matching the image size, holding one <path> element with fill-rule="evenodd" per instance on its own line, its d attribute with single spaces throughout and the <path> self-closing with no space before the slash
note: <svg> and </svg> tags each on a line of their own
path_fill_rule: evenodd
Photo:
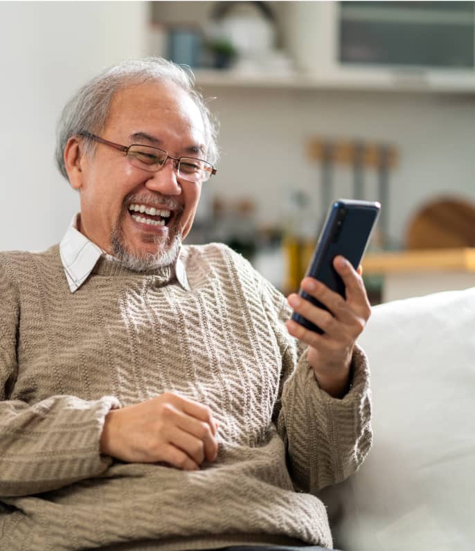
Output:
<svg viewBox="0 0 475 551">
<path fill-rule="evenodd" d="M 55 123 L 127 57 L 186 64 L 221 159 L 188 242 L 298 288 L 330 201 L 377 200 L 373 303 L 475 285 L 472 1 L 0 2 L 0 249 L 58 242 L 78 195 Z"/>
</svg>

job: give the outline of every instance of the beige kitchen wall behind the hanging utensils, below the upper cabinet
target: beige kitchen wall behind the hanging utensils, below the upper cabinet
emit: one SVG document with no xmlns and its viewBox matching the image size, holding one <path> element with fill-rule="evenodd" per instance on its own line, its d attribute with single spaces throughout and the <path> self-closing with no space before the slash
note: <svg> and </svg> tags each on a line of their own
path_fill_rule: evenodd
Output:
<svg viewBox="0 0 475 551">
<path fill-rule="evenodd" d="M 276 223 L 290 189 L 307 191 L 321 211 L 320 172 L 305 158 L 310 136 L 392 143 L 400 164 L 389 178 L 389 234 L 404 238 L 415 210 L 440 195 L 475 204 L 475 94 L 283 90 L 204 90 L 221 122 L 222 160 L 213 190 L 224 197 L 257 197 L 261 222 Z M 266 163 L 267 155 L 279 163 Z M 334 171 L 335 196 L 349 197 L 352 174 Z M 374 172 L 368 199 L 377 199 Z M 326 206 L 325 206 L 326 208 Z M 474 229 L 475 232 L 475 229 Z"/>
</svg>

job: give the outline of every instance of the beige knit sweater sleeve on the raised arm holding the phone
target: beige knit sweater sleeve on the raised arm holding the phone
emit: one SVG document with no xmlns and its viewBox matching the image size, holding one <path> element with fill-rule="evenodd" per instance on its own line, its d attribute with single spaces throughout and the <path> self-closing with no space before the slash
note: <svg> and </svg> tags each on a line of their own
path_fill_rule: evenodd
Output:
<svg viewBox="0 0 475 551">
<path fill-rule="evenodd" d="M 284 323 L 292 314 L 274 287 L 263 284 L 263 301 L 283 350 L 280 395 L 274 419 L 288 455 L 296 489 L 317 494 L 357 471 L 370 449 L 370 373 L 358 346 L 352 357 L 352 384 L 343 399 L 319 388 L 307 347 L 289 335 Z"/>
</svg>

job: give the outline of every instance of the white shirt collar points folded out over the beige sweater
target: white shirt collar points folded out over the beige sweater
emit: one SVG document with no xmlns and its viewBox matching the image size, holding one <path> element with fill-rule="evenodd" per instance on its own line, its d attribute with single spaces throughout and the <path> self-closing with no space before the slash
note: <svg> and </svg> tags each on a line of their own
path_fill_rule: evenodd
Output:
<svg viewBox="0 0 475 551">
<path fill-rule="evenodd" d="M 60 242 L 61 262 L 71 293 L 77 291 L 84 281 L 87 280 L 102 255 L 118 262 L 114 257 L 102 251 L 100 246 L 90 241 L 84 234 L 78 231 L 79 216 L 74 215 Z M 186 277 L 185 265 L 180 257 L 177 258 L 175 264 L 175 275 L 181 287 L 189 291 L 190 285 Z"/>
</svg>

